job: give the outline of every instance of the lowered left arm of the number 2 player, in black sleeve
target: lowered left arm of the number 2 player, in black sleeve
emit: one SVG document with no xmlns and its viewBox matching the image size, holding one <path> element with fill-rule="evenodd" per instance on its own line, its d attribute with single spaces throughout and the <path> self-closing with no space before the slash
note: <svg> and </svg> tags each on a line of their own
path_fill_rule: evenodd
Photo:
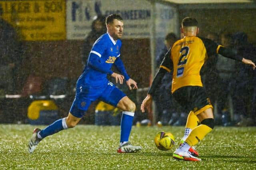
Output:
<svg viewBox="0 0 256 170">
<path fill-rule="evenodd" d="M 170 55 L 171 55 L 170 51 L 171 50 L 169 49 L 169 51 L 166 53 L 161 65 L 160 65 L 160 68 L 154 77 L 152 85 L 148 89 L 148 94 L 147 94 L 146 98 L 142 101 L 142 104 L 140 106 L 140 110 L 142 111 L 142 113 L 145 112 L 145 108 L 148 107 L 148 105 L 151 103 L 152 97 L 156 91 L 156 88 L 158 87 L 159 83 L 161 83 L 162 78 L 164 77 L 166 72 L 170 72 L 173 68 L 172 60 L 170 58 Z"/>
</svg>

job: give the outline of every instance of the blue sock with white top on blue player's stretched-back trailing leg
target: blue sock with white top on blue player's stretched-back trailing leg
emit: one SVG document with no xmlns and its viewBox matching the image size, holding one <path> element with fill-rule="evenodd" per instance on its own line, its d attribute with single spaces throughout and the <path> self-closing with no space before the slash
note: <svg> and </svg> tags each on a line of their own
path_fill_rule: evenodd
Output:
<svg viewBox="0 0 256 170">
<path fill-rule="evenodd" d="M 68 126 L 66 125 L 66 117 L 65 117 L 63 119 L 59 119 L 55 121 L 48 127 L 42 129 L 39 134 L 42 138 L 45 138 L 46 136 L 52 135 L 66 128 L 68 128 Z"/>
</svg>

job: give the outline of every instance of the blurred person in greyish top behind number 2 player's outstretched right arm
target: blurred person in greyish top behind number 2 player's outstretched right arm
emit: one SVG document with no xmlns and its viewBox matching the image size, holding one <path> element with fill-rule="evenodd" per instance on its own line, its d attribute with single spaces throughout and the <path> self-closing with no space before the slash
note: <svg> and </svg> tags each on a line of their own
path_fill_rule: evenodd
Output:
<svg viewBox="0 0 256 170">
<path fill-rule="evenodd" d="M 231 48 L 232 47 L 232 34 L 223 32 L 220 34 L 220 44 L 224 47 Z M 218 55 L 218 61 L 216 64 L 216 68 L 218 71 L 218 106 L 217 111 L 222 115 L 222 123 L 224 126 L 231 125 L 230 123 L 230 109 L 232 106 L 228 105 L 228 97 L 233 97 L 234 95 L 234 73 L 235 73 L 235 64 L 236 61 L 223 57 L 222 55 Z M 241 66 L 242 67 L 242 66 Z M 227 108 L 229 107 L 229 113 L 227 112 Z"/>
</svg>

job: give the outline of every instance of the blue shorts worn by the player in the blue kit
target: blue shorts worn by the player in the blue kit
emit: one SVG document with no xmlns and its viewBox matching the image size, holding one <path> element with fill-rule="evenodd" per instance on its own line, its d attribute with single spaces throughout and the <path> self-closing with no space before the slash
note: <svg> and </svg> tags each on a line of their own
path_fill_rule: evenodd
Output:
<svg viewBox="0 0 256 170">
<path fill-rule="evenodd" d="M 93 101 L 99 99 L 116 107 L 118 102 L 125 96 L 126 94 L 116 88 L 116 86 L 110 81 L 102 88 L 77 86 L 76 97 L 70 108 L 70 113 L 75 117 L 81 118 L 84 116 Z"/>
</svg>

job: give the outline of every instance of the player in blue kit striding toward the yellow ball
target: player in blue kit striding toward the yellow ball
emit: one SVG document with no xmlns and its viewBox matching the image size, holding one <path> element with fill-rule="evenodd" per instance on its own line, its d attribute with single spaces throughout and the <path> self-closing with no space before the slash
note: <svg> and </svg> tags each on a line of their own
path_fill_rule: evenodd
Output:
<svg viewBox="0 0 256 170">
<path fill-rule="evenodd" d="M 120 59 L 120 48 L 124 22 L 118 14 L 111 14 L 106 18 L 107 33 L 96 40 L 90 51 L 87 64 L 76 85 L 76 96 L 70 108 L 68 117 L 59 119 L 40 130 L 34 129 L 28 143 L 28 151 L 32 153 L 38 143 L 46 136 L 67 128 L 75 127 L 82 119 L 88 107 L 97 99 L 123 110 L 121 119 L 120 145 L 118 153 L 129 153 L 141 150 L 141 146 L 134 146 L 128 142 L 136 105 L 118 88 L 113 85 L 107 75 L 122 84 L 124 79 L 129 89 L 138 89 L 137 83 L 129 77 Z M 120 73 L 111 71 L 115 65 Z"/>
</svg>

